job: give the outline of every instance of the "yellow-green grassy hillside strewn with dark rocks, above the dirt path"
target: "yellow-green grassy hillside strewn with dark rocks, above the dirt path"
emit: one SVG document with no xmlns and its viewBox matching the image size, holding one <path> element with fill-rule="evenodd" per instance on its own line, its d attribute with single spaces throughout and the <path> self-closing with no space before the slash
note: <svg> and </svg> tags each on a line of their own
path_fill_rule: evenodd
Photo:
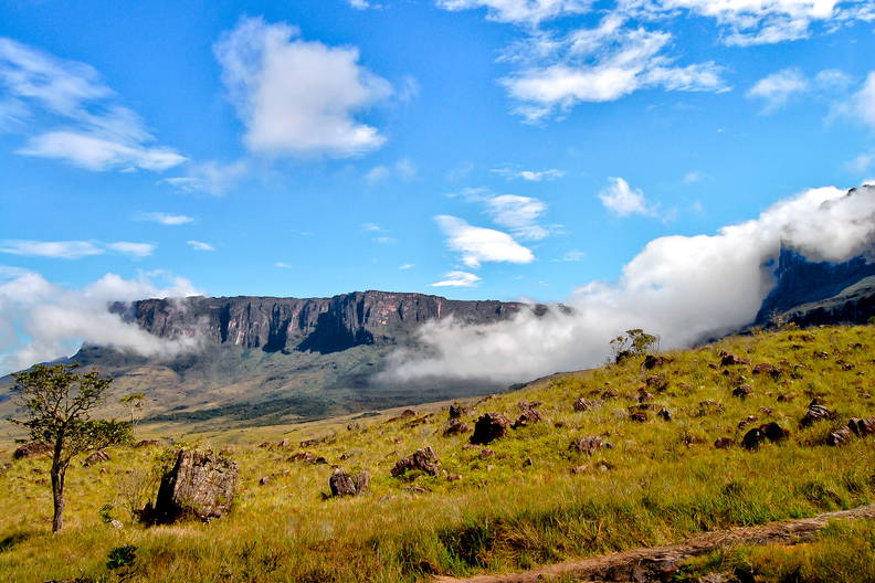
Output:
<svg viewBox="0 0 875 583">
<path fill-rule="evenodd" d="M 791 329 L 666 353 L 667 361 L 652 370 L 632 358 L 557 374 L 470 402 L 463 421 L 472 426 L 482 413 L 514 420 L 520 401 L 541 403 L 536 409 L 542 421 L 486 447 L 471 446 L 471 434 L 443 436 L 445 404 L 418 407 L 415 417 L 396 421 L 389 420 L 398 412 L 189 435 L 215 447 L 233 443 L 241 469 L 233 512 L 209 524 L 134 523 L 124 500 L 134 485 L 147 481 L 158 452 L 113 449 L 103 466 L 71 469 L 68 526 L 53 537 L 48 460 L 18 462 L 0 471 L 0 577 L 115 581 L 107 553 L 130 544 L 136 561 L 129 581 L 417 581 L 431 573 L 523 570 L 871 504 L 875 437 L 842 447 L 823 441 L 848 417 L 875 416 L 873 349 L 873 327 Z M 720 365 L 724 352 L 750 364 Z M 755 374 L 759 363 L 780 372 Z M 752 394 L 734 396 L 740 385 Z M 633 421 L 629 407 L 640 404 L 642 390 L 652 394 L 642 410 L 647 418 Z M 581 396 L 600 404 L 576 411 Z M 800 427 L 813 398 L 836 417 Z M 670 421 L 657 414 L 663 409 Z M 789 438 L 755 452 L 738 445 L 749 428 L 767 422 L 789 430 Z M 166 434 L 167 426 L 143 431 Z M 612 447 L 592 455 L 569 449 L 589 435 Z M 294 445 L 256 446 L 283 437 Z M 298 447 L 314 437 L 321 441 Z M 735 445 L 716 448 L 721 437 Z M 400 457 L 424 446 L 440 456 L 441 474 L 390 476 Z M 323 499 L 331 466 L 288 459 L 304 451 L 349 471 L 370 471 L 370 494 Z M 260 485 L 265 476 L 271 479 Z M 106 504 L 123 529 L 102 521 Z M 867 533 L 861 534 L 863 544 Z M 734 559 L 711 560 L 714 566 Z"/>
</svg>

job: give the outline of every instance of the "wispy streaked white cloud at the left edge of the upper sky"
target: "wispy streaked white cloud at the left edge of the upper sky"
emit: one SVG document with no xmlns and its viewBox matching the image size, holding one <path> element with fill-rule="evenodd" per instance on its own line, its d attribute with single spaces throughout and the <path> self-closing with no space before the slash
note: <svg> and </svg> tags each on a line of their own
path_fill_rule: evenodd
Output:
<svg viewBox="0 0 875 583">
<path fill-rule="evenodd" d="M 19 117 L 40 112 L 65 126 L 46 130 L 33 124 L 33 135 L 18 153 L 93 171 L 162 171 L 186 161 L 170 148 L 152 146 L 155 137 L 139 116 L 118 105 L 101 75 L 84 63 L 0 38 L 0 96 L 4 109 L 13 107 Z"/>
</svg>

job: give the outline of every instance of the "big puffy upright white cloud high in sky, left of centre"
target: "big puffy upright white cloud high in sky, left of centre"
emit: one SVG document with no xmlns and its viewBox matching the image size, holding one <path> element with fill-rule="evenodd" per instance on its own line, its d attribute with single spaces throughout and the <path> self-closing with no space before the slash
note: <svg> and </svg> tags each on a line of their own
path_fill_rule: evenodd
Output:
<svg viewBox="0 0 875 583">
<path fill-rule="evenodd" d="M 268 157 L 348 157 L 382 146 L 379 130 L 356 115 L 389 97 L 389 82 L 359 65 L 358 49 L 299 34 L 244 19 L 215 45 L 246 146 Z"/>
</svg>

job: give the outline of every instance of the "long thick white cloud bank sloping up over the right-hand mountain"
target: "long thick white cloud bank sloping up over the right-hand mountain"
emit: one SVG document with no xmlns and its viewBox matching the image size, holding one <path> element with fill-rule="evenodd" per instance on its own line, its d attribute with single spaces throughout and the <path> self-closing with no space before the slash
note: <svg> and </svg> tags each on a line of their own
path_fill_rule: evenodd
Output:
<svg viewBox="0 0 875 583">
<path fill-rule="evenodd" d="M 812 261 L 842 262 L 860 255 L 873 234 L 875 187 L 850 194 L 808 190 L 715 235 L 651 241 L 618 282 L 577 289 L 566 303 L 571 312 L 523 312 L 485 326 L 430 322 L 419 332 L 430 356 L 399 350 L 386 375 L 518 382 L 598 365 L 609 354 L 609 339 L 629 328 L 658 335 L 662 348 L 687 347 L 755 318 L 774 285 L 782 244 Z"/>
</svg>

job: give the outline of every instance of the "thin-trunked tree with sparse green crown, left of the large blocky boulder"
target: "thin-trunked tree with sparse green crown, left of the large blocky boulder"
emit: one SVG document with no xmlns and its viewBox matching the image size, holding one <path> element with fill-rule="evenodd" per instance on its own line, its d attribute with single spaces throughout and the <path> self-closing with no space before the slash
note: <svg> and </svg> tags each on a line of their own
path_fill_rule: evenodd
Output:
<svg viewBox="0 0 875 583">
<path fill-rule="evenodd" d="M 130 423 L 92 420 L 91 412 L 103 403 L 112 379 L 99 373 L 76 372 L 78 364 L 36 364 L 13 374 L 23 418 L 11 420 L 30 432 L 31 439 L 53 446 L 52 532 L 64 526 L 64 477 L 76 455 L 130 439 Z"/>
</svg>

